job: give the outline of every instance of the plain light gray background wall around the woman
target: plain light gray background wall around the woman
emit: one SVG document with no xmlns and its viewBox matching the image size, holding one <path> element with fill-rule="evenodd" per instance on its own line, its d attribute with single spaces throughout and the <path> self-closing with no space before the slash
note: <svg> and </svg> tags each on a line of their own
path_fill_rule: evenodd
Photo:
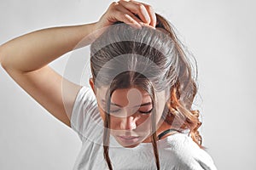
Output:
<svg viewBox="0 0 256 170">
<path fill-rule="evenodd" d="M 29 31 L 96 21 L 111 2 L 1 0 L 0 44 Z M 198 60 L 196 108 L 202 114 L 203 144 L 216 166 L 255 169 L 255 1 L 144 2 L 172 21 Z M 67 55 L 51 64 L 61 74 Z M 88 54 L 80 58 L 88 59 Z M 0 87 L 0 169 L 72 169 L 81 147 L 77 134 L 38 105 L 2 67 Z"/>
</svg>

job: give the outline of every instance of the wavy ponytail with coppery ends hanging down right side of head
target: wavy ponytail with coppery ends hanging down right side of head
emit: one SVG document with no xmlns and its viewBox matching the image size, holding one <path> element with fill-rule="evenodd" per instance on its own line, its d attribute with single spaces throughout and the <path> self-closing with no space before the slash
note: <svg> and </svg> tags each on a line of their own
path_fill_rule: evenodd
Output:
<svg viewBox="0 0 256 170">
<path fill-rule="evenodd" d="M 182 43 L 178 41 L 175 32 L 172 29 L 171 24 L 160 14 L 156 14 L 157 24 L 156 29 L 166 32 L 166 34 L 172 38 L 172 41 L 175 43 L 175 48 L 177 49 L 178 62 L 179 62 L 179 73 L 177 82 L 170 89 L 171 99 L 169 99 L 168 114 L 166 115 L 166 122 L 172 124 L 174 118 L 178 122 L 176 126 L 179 128 L 189 128 L 189 135 L 198 144 L 201 148 L 204 148 L 201 143 L 201 135 L 198 132 L 198 128 L 201 126 L 199 120 L 199 111 L 192 111 L 191 105 L 197 93 L 197 87 L 195 80 L 192 77 L 192 66 L 189 65 L 189 61 L 186 57 L 186 54 L 183 51 Z M 177 116 L 177 117 L 175 117 Z"/>
</svg>

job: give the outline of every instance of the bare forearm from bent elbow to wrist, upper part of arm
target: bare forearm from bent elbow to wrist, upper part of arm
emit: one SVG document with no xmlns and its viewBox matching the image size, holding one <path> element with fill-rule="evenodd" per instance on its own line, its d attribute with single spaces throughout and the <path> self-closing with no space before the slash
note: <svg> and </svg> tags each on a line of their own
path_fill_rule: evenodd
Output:
<svg viewBox="0 0 256 170">
<path fill-rule="evenodd" d="M 35 71 L 73 50 L 88 37 L 95 24 L 64 26 L 34 31 L 0 46 L 0 62 L 4 68 Z M 83 45 L 90 43 L 90 38 Z"/>
</svg>

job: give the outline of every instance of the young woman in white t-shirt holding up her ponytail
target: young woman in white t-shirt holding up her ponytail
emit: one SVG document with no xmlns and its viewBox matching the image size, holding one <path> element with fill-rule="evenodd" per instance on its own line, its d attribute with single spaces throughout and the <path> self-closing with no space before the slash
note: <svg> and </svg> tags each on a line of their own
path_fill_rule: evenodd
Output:
<svg viewBox="0 0 256 170">
<path fill-rule="evenodd" d="M 91 89 L 48 66 L 90 43 Z M 74 169 L 216 169 L 201 145 L 199 112 L 191 109 L 193 65 L 169 23 L 147 4 L 119 1 L 96 23 L 15 38 L 1 46 L 0 61 L 79 133 Z"/>
</svg>

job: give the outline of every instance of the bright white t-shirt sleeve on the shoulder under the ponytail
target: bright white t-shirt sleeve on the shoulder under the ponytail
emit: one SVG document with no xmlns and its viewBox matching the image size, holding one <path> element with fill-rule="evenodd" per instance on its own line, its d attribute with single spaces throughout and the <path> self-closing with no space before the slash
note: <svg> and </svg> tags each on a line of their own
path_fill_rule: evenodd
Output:
<svg viewBox="0 0 256 170">
<path fill-rule="evenodd" d="M 175 170 L 217 170 L 212 157 L 185 133 L 175 133 L 163 143 L 162 156 L 170 158 Z M 162 146 L 162 147 L 163 147 Z M 166 162 L 166 166 L 169 161 Z"/>
</svg>

